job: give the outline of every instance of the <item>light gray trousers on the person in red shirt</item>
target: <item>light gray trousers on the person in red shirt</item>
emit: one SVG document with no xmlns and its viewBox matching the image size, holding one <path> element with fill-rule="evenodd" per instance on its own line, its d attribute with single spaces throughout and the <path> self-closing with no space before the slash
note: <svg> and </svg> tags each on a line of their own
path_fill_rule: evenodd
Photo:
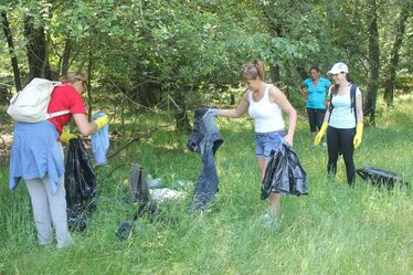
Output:
<svg viewBox="0 0 413 275">
<path fill-rule="evenodd" d="M 42 179 L 25 180 L 32 201 L 34 222 L 38 230 L 39 244 L 45 245 L 53 242 L 53 228 L 56 231 L 57 247 L 64 247 L 73 243 L 67 228 L 66 190 L 64 177 L 55 194 L 52 194 L 49 176 Z"/>
</svg>

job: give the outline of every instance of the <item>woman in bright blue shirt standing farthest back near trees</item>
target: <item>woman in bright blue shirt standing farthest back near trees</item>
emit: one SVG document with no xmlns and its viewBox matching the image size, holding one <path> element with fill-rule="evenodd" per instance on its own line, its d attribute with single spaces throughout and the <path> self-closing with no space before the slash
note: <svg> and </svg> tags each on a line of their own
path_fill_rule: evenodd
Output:
<svg viewBox="0 0 413 275">
<path fill-rule="evenodd" d="M 311 138 L 316 137 L 317 130 L 321 129 L 321 125 L 326 115 L 326 92 L 331 82 L 320 76 L 320 70 L 311 66 L 309 70 L 311 77 L 303 82 L 301 94 L 307 97 L 307 114 L 310 126 Z M 322 142 L 325 144 L 325 142 Z"/>
</svg>

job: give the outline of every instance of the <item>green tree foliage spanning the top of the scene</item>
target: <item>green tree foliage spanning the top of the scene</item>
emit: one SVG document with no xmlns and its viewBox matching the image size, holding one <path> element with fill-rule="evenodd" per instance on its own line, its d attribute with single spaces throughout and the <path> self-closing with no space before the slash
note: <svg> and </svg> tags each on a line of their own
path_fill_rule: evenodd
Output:
<svg viewBox="0 0 413 275">
<path fill-rule="evenodd" d="M 379 1 L 383 70 L 402 2 Z M 109 77 L 133 98 L 133 93 L 141 93 L 136 87 L 147 82 L 186 93 L 208 93 L 210 85 L 237 86 L 241 65 L 257 56 L 268 68 L 280 68 L 282 85 L 297 86 L 297 68 L 307 71 L 316 64 L 326 72 L 338 61 L 349 63 L 356 82 L 367 82 L 364 1 L 42 0 L 6 1 L 2 7 L 23 75 L 28 72 L 23 21 L 31 15 L 46 31 L 56 73 L 70 40 L 72 71 L 85 71 L 92 62 L 94 85 L 110 91 Z M 413 49 L 411 18 L 406 24 L 400 64 L 411 71 L 406 57 Z M 0 52 L 1 70 L 10 75 L 7 55 Z"/>
</svg>

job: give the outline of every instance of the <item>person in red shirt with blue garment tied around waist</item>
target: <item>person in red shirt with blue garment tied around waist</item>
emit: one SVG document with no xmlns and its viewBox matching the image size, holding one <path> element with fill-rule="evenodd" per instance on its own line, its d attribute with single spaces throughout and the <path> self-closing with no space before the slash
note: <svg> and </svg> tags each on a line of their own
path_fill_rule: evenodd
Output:
<svg viewBox="0 0 413 275">
<path fill-rule="evenodd" d="M 81 73 L 70 73 L 62 85 L 54 87 L 47 113 L 70 110 L 41 123 L 17 123 L 10 159 L 9 187 L 13 192 L 18 181 L 24 179 L 32 202 L 38 242 L 53 242 L 55 230 L 57 247 L 73 243 L 66 216 L 64 188 L 64 157 L 61 141 L 68 142 L 76 135 L 63 133 L 72 116 L 83 135 L 89 135 L 107 124 L 107 116 L 89 123 L 82 92 L 86 81 Z"/>
</svg>

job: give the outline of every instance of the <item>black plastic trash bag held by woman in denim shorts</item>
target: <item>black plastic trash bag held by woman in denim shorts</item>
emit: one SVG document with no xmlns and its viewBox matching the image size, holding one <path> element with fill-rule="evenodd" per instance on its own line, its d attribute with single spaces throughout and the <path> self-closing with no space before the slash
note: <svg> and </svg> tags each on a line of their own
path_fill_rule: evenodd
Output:
<svg viewBox="0 0 413 275">
<path fill-rule="evenodd" d="M 307 173 L 292 148 L 283 144 L 272 154 L 263 179 L 261 199 L 265 200 L 271 193 L 308 194 Z"/>
</svg>

